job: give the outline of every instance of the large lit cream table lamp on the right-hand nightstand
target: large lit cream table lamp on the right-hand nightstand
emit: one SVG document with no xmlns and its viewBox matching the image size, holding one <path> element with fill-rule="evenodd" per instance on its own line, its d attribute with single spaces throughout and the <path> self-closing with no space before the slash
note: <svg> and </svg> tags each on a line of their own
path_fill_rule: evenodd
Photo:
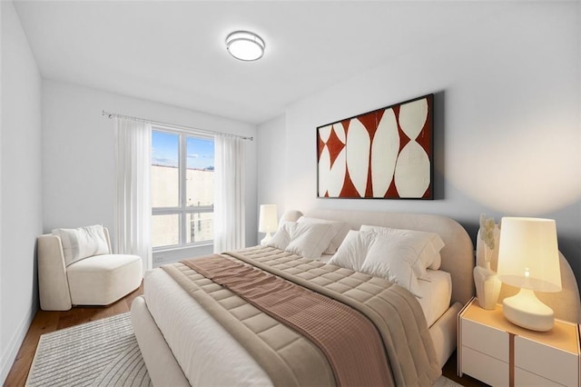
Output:
<svg viewBox="0 0 581 387">
<path fill-rule="evenodd" d="M 520 288 L 502 303 L 511 323 L 533 331 L 550 331 L 555 313 L 535 295 L 560 292 L 561 271 L 556 223 L 551 219 L 504 217 L 500 223 L 497 276 Z"/>
</svg>

